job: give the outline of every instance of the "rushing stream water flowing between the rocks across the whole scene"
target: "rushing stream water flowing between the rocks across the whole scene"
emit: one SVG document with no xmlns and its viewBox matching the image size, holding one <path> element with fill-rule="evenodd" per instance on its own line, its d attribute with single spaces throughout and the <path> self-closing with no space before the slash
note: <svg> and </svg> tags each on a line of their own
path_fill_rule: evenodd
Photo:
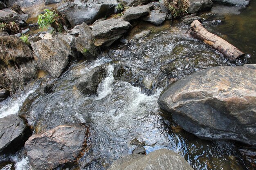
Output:
<svg viewBox="0 0 256 170">
<path fill-rule="evenodd" d="M 157 99 L 168 84 L 194 71 L 256 63 L 255 9 L 253 0 L 247 8 L 216 5 L 211 12 L 202 14 L 209 31 L 246 53 L 236 61 L 189 37 L 189 26 L 179 22 L 165 22 L 162 26 L 141 22 L 126 38 L 151 29 L 147 38 L 130 40 L 129 44 L 117 42 L 92 62 L 73 62 L 59 79 L 45 75 L 31 82 L 26 90 L 0 102 L 0 117 L 23 115 L 35 133 L 65 123 L 87 124 L 88 151 L 70 170 L 104 170 L 136 148 L 130 145 L 135 138 L 145 141 L 147 153 L 168 148 L 182 155 L 195 170 L 252 169 L 238 152 L 241 144 L 198 139 L 176 126 L 171 114 L 159 108 Z M 77 81 L 99 65 L 107 67 L 108 76 L 99 85 L 99 95 L 86 97 L 76 88 Z M 118 67 L 124 68 L 124 73 L 115 79 L 113 72 Z M 53 93 L 43 93 L 45 83 L 54 84 Z M 24 148 L 13 155 L 2 155 L 0 160 L 1 170 L 31 170 Z M 255 165 L 255 160 L 251 163 Z"/>
</svg>

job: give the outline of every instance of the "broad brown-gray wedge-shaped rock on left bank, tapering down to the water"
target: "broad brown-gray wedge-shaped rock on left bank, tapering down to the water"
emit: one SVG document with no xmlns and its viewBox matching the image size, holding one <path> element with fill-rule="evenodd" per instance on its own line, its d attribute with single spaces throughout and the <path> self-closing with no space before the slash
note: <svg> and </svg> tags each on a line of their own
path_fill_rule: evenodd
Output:
<svg viewBox="0 0 256 170">
<path fill-rule="evenodd" d="M 38 67 L 52 77 L 59 77 L 69 65 L 69 56 L 74 54 L 74 36 L 56 35 L 52 40 L 31 42 Z"/>
</svg>

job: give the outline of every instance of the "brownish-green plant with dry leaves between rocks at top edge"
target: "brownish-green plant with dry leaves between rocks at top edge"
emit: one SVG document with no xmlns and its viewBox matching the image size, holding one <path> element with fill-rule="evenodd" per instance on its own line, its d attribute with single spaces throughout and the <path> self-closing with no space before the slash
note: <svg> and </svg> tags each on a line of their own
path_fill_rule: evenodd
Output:
<svg viewBox="0 0 256 170">
<path fill-rule="evenodd" d="M 182 17 L 189 8 L 189 0 L 164 0 L 174 18 Z"/>
</svg>

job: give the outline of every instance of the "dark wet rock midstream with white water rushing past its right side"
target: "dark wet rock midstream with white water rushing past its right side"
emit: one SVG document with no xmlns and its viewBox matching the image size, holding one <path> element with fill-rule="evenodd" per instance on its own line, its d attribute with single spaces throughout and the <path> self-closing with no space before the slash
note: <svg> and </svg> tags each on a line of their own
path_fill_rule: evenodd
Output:
<svg viewBox="0 0 256 170">
<path fill-rule="evenodd" d="M 99 84 L 106 77 L 105 66 L 97 66 L 87 74 L 79 78 L 77 88 L 85 95 L 96 95 Z"/>
</svg>

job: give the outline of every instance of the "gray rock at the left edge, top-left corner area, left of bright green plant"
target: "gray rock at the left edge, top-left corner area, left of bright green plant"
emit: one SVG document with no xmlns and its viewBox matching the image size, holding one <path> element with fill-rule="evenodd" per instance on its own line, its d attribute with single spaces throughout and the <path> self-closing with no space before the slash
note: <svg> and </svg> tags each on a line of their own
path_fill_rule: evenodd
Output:
<svg viewBox="0 0 256 170">
<path fill-rule="evenodd" d="M 27 14 L 17 14 L 10 8 L 0 10 L 0 22 L 16 22 L 20 24 L 20 26 L 25 26 L 26 20 L 28 18 Z"/>
</svg>

